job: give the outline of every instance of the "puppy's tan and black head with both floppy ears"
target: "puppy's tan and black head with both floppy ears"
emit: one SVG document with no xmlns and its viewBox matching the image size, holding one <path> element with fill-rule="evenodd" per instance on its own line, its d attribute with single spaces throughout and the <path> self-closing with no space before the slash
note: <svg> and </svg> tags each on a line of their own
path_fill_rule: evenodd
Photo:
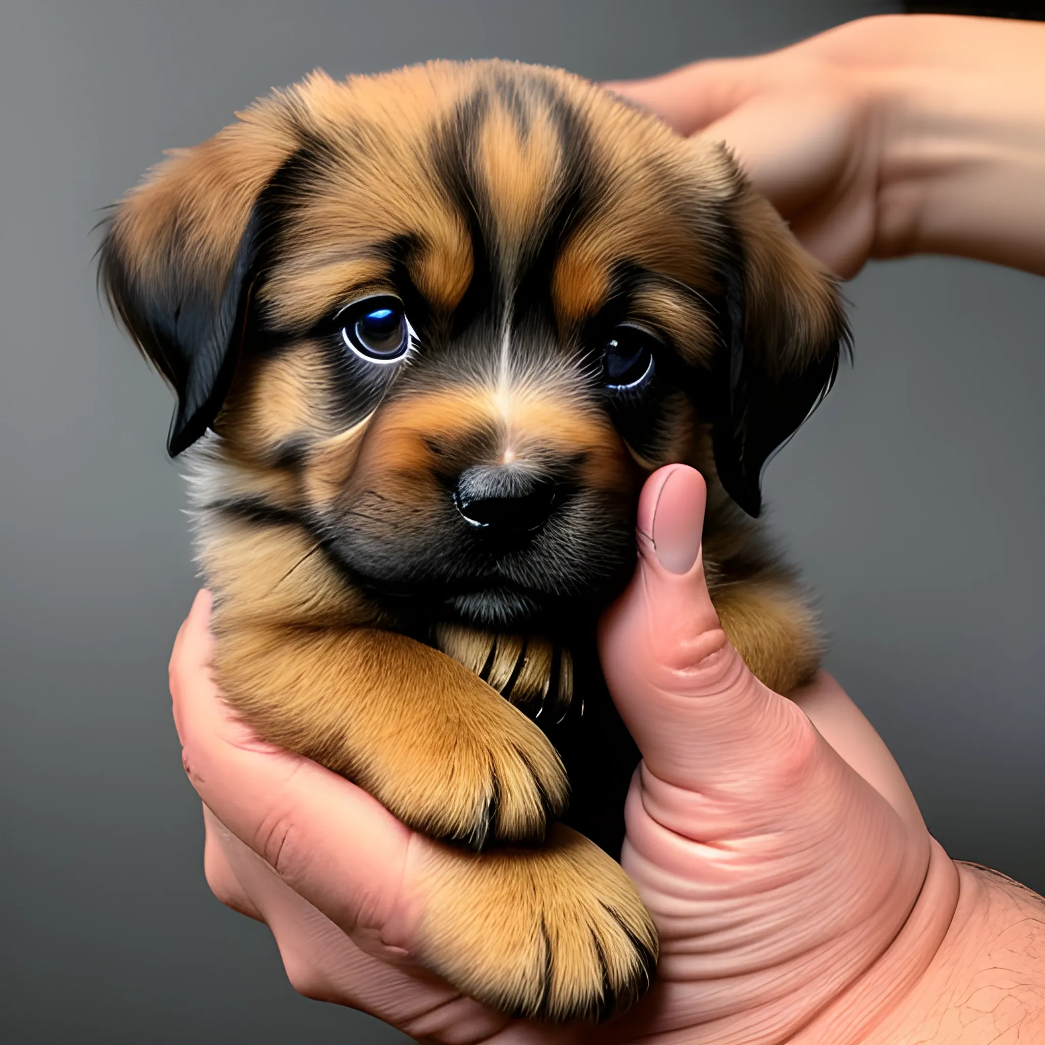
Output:
<svg viewBox="0 0 1045 1045">
<path fill-rule="evenodd" d="M 728 155 L 548 69 L 316 74 L 161 165 L 101 255 L 178 397 L 392 610 L 590 616 L 643 478 L 688 461 L 749 514 L 844 320 Z"/>
</svg>

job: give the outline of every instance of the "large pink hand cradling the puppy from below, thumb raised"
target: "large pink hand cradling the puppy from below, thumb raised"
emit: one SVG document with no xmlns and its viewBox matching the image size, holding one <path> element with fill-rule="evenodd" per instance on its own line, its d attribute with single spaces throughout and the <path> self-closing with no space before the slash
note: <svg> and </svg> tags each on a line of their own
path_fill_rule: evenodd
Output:
<svg viewBox="0 0 1045 1045">
<path fill-rule="evenodd" d="M 989 944 L 1027 924 L 1029 901 L 1012 889 L 999 901 L 1000 886 L 946 858 L 832 680 L 792 702 L 750 675 L 703 582 L 703 496 L 684 466 L 648 481 L 635 578 L 601 631 L 607 680 L 644 756 L 622 861 L 657 922 L 661 960 L 646 998 L 594 1030 L 509 1021 L 420 967 L 436 843 L 231 716 L 210 681 L 209 601 L 198 598 L 171 692 L 205 803 L 208 882 L 269 924 L 299 991 L 433 1042 L 884 1045 L 935 1041 L 922 1028 L 937 1011 L 967 1034 L 947 1041 L 997 1038 L 969 1037 L 982 1025 L 953 999 L 973 983 L 1002 989 L 977 977 L 998 965 Z M 1032 949 L 1020 968 L 1042 983 Z M 1007 953 L 1009 980 L 1017 967 Z"/>
</svg>

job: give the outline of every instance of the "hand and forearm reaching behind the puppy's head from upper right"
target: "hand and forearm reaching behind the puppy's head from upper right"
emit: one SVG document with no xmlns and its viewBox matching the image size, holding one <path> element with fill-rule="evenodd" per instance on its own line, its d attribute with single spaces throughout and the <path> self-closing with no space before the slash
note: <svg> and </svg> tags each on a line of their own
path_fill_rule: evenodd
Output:
<svg viewBox="0 0 1045 1045">
<path fill-rule="evenodd" d="M 915 253 L 1045 274 L 1045 25 L 880 16 L 607 87 L 725 141 L 844 278 Z"/>
</svg>

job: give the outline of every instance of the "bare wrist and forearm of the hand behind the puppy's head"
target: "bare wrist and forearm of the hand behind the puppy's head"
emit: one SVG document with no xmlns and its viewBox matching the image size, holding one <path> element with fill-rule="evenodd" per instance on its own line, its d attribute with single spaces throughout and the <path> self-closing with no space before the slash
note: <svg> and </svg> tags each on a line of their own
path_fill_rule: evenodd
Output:
<svg viewBox="0 0 1045 1045">
<path fill-rule="evenodd" d="M 1045 275 L 1045 25 L 889 17 L 819 39 L 874 92 L 874 255 Z"/>
</svg>

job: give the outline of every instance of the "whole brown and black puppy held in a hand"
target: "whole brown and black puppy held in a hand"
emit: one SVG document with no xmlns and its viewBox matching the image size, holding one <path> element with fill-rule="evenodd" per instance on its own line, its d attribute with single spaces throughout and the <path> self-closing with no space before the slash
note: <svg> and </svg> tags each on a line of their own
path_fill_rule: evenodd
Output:
<svg viewBox="0 0 1045 1045">
<path fill-rule="evenodd" d="M 643 480 L 688 462 L 729 637 L 780 692 L 815 670 L 748 516 L 835 374 L 832 279 L 723 149 L 498 62 L 256 102 L 126 196 L 101 273 L 195 444 L 228 700 L 455 843 L 435 970 L 511 1013 L 629 1003 L 656 937 L 599 847 L 638 753 L 596 621 Z"/>
</svg>

